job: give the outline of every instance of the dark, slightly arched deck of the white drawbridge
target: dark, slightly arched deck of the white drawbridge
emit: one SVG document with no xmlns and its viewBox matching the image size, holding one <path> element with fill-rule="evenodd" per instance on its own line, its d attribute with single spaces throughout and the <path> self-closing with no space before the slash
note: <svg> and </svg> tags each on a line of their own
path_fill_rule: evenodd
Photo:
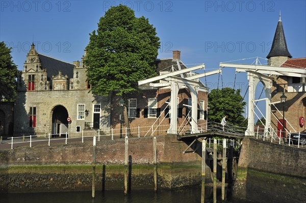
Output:
<svg viewBox="0 0 306 203">
<path fill-rule="evenodd" d="M 186 139 L 195 139 L 199 137 L 213 137 L 213 136 L 222 136 L 228 138 L 244 138 L 244 134 L 229 133 L 225 131 L 210 131 L 210 132 L 188 134 L 188 135 L 177 135 L 177 139 L 186 140 Z"/>
</svg>

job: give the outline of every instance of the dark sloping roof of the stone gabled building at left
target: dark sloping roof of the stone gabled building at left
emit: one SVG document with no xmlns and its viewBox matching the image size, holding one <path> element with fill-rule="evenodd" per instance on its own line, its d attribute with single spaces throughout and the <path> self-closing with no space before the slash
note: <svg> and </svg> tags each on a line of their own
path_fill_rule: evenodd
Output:
<svg viewBox="0 0 306 203">
<path fill-rule="evenodd" d="M 43 54 L 38 54 L 41 69 L 46 69 L 48 78 L 52 78 L 52 75 L 58 75 L 59 71 L 62 71 L 62 75 L 68 75 L 68 78 L 73 77 L 73 64 L 63 62 L 53 57 L 49 57 Z"/>
</svg>

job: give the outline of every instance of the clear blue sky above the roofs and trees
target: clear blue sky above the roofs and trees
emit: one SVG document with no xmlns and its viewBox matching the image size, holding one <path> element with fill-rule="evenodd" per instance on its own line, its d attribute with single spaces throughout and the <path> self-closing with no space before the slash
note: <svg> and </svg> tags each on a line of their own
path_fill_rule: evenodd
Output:
<svg viewBox="0 0 306 203">
<path fill-rule="evenodd" d="M 1 0 L 0 41 L 13 47 L 13 60 L 20 70 L 32 41 L 39 53 L 72 63 L 84 54 L 99 18 L 120 3 L 156 27 L 161 41 L 159 58 L 181 50 L 181 60 L 188 67 L 204 63 L 210 71 L 218 69 L 220 62 L 256 56 L 265 59 L 280 10 L 289 52 L 295 58 L 306 57 L 306 1 Z M 223 69 L 223 86 L 233 87 L 234 78 L 234 69 Z M 207 77 L 207 82 L 210 88 L 217 88 L 218 75 Z M 236 83 L 243 96 L 246 74 L 237 74 Z M 258 88 L 256 97 L 261 90 Z"/>
</svg>

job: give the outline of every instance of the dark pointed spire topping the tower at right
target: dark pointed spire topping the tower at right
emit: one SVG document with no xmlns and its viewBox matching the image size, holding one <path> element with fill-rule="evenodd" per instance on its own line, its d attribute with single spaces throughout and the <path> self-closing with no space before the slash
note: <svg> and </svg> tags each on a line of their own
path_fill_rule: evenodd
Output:
<svg viewBox="0 0 306 203">
<path fill-rule="evenodd" d="M 286 38 L 283 29 L 283 23 L 281 19 L 281 11 L 279 11 L 278 23 L 272 43 L 270 53 L 267 55 L 267 58 L 273 56 L 287 56 L 292 58 L 292 55 L 289 53 L 286 43 Z"/>
</svg>

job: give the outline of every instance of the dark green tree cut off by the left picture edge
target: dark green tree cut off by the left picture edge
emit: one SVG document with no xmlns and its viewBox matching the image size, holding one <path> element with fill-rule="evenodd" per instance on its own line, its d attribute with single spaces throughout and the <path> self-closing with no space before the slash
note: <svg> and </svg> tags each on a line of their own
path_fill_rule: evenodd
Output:
<svg viewBox="0 0 306 203">
<path fill-rule="evenodd" d="M 16 96 L 17 66 L 12 61 L 11 48 L 0 42 L 0 101 L 13 101 Z"/>
</svg>

